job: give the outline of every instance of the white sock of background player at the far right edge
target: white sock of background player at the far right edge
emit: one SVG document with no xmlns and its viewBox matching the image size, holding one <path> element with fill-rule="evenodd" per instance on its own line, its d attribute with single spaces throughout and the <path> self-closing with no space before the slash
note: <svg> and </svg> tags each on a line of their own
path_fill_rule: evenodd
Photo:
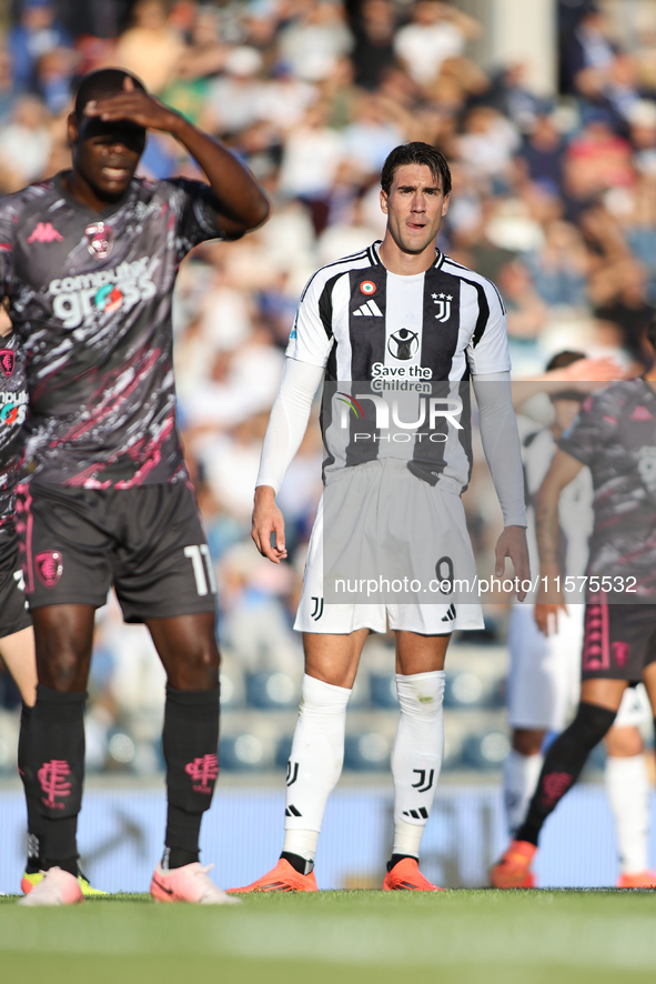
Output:
<svg viewBox="0 0 656 984">
<path fill-rule="evenodd" d="M 623 874 L 647 871 L 649 777 L 645 755 L 606 760 L 606 793 L 615 817 L 617 853 Z"/>
</svg>

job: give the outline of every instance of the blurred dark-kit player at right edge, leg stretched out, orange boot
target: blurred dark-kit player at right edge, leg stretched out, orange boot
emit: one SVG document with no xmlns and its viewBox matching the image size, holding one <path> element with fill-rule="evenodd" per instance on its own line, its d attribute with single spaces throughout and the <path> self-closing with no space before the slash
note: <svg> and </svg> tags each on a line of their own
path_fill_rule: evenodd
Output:
<svg viewBox="0 0 656 984">
<path fill-rule="evenodd" d="M 553 631 L 565 606 L 555 581 L 558 499 L 584 465 L 593 478 L 595 513 L 586 574 L 597 584 L 587 584 L 578 711 L 551 745 L 526 819 L 492 870 L 498 888 L 521 887 L 526 880 L 547 816 L 608 733 L 626 687 L 643 680 L 656 714 L 655 324 L 647 340 L 654 367 L 586 399 L 537 496 L 539 573 L 548 585 L 541 586 L 535 608 L 541 630 Z M 625 604 L 633 599 L 642 603 Z"/>
</svg>

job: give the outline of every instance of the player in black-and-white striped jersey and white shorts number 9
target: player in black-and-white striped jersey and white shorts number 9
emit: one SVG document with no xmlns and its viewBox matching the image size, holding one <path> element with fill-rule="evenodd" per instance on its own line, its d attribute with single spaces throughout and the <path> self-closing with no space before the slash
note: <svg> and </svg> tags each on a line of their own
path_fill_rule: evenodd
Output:
<svg viewBox="0 0 656 984">
<path fill-rule="evenodd" d="M 264 556 L 280 563 L 286 551 L 275 494 L 325 378 L 325 491 L 295 623 L 303 632 L 305 676 L 289 763 L 283 852 L 271 872 L 232 891 L 316 890 L 314 856 L 327 797 L 342 769 L 346 704 L 366 636 L 384 632 L 387 621 L 396 636 L 401 719 L 392 753 L 394 844 L 383 887 L 436 891 L 418 871 L 418 855 L 442 763 L 444 660 L 453 630 L 481 627 L 483 619 L 477 598 L 461 603 L 454 586 L 454 576 L 475 576 L 460 499 L 470 475 L 471 442 L 462 425 L 452 426 L 432 411 L 426 415 L 426 403 L 433 410 L 441 402 L 430 396 L 435 385 L 451 399 L 473 376 L 505 523 L 496 574 L 509 556 L 519 579 L 528 576 L 503 302 L 490 281 L 436 250 L 451 192 L 441 152 L 420 142 L 396 148 L 381 184 L 385 237 L 311 278 L 264 439 L 253 539 Z M 356 382 L 367 390 L 365 396 Z M 414 400 L 420 413 L 412 433 L 413 425 L 403 421 L 415 418 L 401 421 L 394 402 L 401 394 Z M 445 405 L 457 405 L 457 399 Z M 336 519 L 329 521 L 329 513 Z M 337 584 L 324 579 L 329 548 L 335 569 L 366 554 L 374 569 L 386 570 L 403 555 L 411 579 L 437 572 L 444 592 L 434 603 L 425 603 L 424 594 L 404 603 L 336 603 L 324 590 Z"/>
</svg>

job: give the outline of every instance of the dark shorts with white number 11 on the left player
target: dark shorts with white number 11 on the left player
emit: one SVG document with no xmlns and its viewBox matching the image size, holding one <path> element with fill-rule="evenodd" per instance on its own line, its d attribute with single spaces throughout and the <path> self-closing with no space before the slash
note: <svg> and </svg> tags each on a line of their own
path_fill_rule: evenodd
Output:
<svg viewBox="0 0 656 984">
<path fill-rule="evenodd" d="M 19 486 L 31 609 L 100 608 L 113 585 L 125 622 L 213 612 L 216 584 L 191 485 Z"/>
</svg>

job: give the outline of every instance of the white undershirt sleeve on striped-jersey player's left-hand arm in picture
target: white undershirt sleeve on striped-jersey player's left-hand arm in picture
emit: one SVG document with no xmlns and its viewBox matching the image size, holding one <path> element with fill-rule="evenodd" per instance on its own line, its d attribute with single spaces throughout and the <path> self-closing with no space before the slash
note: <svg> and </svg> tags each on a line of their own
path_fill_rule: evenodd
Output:
<svg viewBox="0 0 656 984">
<path fill-rule="evenodd" d="M 271 408 L 262 445 L 256 485 L 271 485 L 277 494 L 285 472 L 301 446 L 312 401 L 323 379 L 322 365 L 285 359 L 277 396 Z"/>
</svg>

